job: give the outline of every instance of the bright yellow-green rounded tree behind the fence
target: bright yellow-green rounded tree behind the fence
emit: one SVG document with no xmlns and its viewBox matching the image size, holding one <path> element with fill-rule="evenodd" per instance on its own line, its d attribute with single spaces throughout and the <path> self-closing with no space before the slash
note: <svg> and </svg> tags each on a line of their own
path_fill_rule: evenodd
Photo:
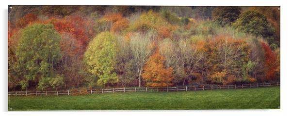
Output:
<svg viewBox="0 0 292 116">
<path fill-rule="evenodd" d="M 111 32 L 101 32 L 88 45 L 84 61 L 90 73 L 98 77 L 97 85 L 116 83 L 117 39 Z"/>
</svg>

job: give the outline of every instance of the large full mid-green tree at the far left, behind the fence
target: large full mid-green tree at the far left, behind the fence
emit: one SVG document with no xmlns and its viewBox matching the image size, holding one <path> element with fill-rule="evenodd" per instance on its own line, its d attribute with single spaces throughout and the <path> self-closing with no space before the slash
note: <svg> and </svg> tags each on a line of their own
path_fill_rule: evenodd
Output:
<svg viewBox="0 0 292 116">
<path fill-rule="evenodd" d="M 62 58 L 59 47 L 61 36 L 53 25 L 34 24 L 22 30 L 16 48 L 17 63 L 14 64 L 22 89 L 30 83 L 38 83 L 38 89 L 57 89 L 63 84 L 63 77 L 56 74 Z"/>
</svg>

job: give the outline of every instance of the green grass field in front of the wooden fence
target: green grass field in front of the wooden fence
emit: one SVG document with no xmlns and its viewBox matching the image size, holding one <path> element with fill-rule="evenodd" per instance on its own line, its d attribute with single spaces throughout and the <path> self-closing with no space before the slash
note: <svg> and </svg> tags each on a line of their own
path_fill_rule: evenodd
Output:
<svg viewBox="0 0 292 116">
<path fill-rule="evenodd" d="M 81 96 L 8 96 L 8 110 L 279 109 L 279 106 L 280 87 Z"/>
</svg>

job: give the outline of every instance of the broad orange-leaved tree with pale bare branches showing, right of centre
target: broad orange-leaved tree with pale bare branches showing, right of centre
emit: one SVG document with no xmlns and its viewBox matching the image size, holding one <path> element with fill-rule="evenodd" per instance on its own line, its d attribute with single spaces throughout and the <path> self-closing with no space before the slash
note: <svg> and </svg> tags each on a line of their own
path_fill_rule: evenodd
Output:
<svg viewBox="0 0 292 116">
<path fill-rule="evenodd" d="M 219 35 L 211 41 L 209 57 L 211 80 L 214 83 L 233 83 L 247 81 L 242 66 L 248 63 L 249 49 L 244 39 L 233 39 L 230 36 Z"/>
</svg>

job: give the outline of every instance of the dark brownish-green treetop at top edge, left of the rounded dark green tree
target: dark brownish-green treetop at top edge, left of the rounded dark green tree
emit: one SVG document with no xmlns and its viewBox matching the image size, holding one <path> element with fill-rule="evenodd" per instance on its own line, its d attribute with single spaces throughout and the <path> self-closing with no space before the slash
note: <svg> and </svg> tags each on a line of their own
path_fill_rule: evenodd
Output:
<svg viewBox="0 0 292 116">
<path fill-rule="evenodd" d="M 216 7 L 212 12 L 213 21 L 218 22 L 221 26 L 231 25 L 240 15 L 240 7 Z"/>
</svg>

